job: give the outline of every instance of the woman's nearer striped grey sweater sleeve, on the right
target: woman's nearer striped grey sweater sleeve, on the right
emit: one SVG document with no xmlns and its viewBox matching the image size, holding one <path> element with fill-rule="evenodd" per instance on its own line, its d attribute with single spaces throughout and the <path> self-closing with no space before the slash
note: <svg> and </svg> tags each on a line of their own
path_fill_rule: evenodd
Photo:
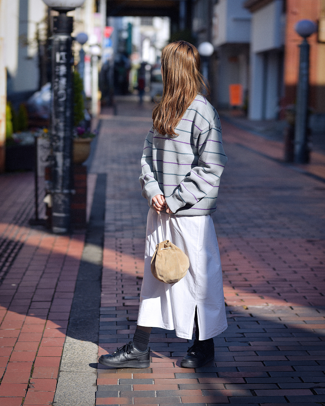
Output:
<svg viewBox="0 0 325 406">
<path fill-rule="evenodd" d="M 201 130 L 198 138 L 198 165 L 191 169 L 169 197 L 167 205 L 173 213 L 186 204 L 195 205 L 214 188 L 219 188 L 220 176 L 228 158 L 223 151 L 221 128 L 212 121 Z"/>
</svg>

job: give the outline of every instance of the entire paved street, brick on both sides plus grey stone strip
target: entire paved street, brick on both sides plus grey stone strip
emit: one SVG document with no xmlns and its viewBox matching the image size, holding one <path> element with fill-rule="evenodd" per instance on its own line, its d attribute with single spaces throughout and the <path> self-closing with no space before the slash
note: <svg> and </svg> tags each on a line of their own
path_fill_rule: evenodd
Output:
<svg viewBox="0 0 325 406">
<path fill-rule="evenodd" d="M 154 328 L 150 368 L 97 364 L 137 323 L 148 212 L 139 161 L 150 117 L 149 103 L 102 112 L 85 235 L 30 228 L 32 175 L 0 176 L 0 406 L 49 405 L 55 390 L 56 406 L 324 405 L 324 181 L 278 162 L 280 144 L 228 122 L 212 217 L 229 327 L 215 337 L 215 361 L 181 368 L 192 341 Z"/>
</svg>

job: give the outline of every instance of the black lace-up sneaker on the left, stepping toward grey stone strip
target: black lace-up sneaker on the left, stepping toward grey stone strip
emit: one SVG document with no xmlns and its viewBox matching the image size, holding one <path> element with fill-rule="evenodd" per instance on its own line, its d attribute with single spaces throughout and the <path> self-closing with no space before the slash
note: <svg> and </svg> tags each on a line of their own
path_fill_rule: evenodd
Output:
<svg viewBox="0 0 325 406">
<path fill-rule="evenodd" d="M 114 368 L 148 368 L 150 366 L 150 347 L 139 351 L 130 341 L 113 354 L 101 355 L 98 362 Z"/>
</svg>

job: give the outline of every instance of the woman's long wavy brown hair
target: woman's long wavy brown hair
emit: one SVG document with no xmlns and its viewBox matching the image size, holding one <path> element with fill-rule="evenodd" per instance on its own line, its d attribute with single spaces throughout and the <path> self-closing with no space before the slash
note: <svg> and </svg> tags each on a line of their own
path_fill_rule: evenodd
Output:
<svg viewBox="0 0 325 406">
<path fill-rule="evenodd" d="M 154 128 L 160 134 L 178 136 L 175 128 L 186 109 L 203 89 L 209 93 L 200 73 L 200 56 L 194 45 L 186 41 L 172 42 L 161 54 L 164 90 L 154 107 Z"/>
</svg>

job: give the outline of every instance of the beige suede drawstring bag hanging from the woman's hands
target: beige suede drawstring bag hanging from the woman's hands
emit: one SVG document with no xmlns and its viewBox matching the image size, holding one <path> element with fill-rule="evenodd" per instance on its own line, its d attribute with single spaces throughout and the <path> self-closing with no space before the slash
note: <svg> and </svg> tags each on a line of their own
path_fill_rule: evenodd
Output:
<svg viewBox="0 0 325 406">
<path fill-rule="evenodd" d="M 163 238 L 165 240 L 163 222 L 161 220 L 160 212 L 159 217 Z M 166 237 L 169 227 L 169 220 L 170 216 L 167 223 Z M 175 244 L 169 240 L 165 240 L 156 245 L 156 251 L 154 252 L 154 255 L 152 255 L 151 259 L 151 273 L 156 279 L 158 279 L 158 281 L 164 283 L 176 283 L 184 278 L 189 267 L 189 258 Z"/>
</svg>

